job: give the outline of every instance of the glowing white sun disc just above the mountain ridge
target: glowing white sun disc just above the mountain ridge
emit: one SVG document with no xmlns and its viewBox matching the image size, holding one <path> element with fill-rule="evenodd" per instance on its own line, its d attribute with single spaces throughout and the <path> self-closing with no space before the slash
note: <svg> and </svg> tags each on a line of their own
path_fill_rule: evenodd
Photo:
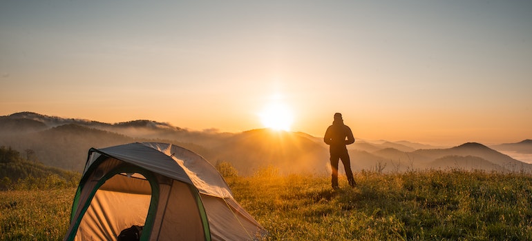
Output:
<svg viewBox="0 0 532 241">
<path fill-rule="evenodd" d="M 294 122 L 292 111 L 283 103 L 269 103 L 259 116 L 266 128 L 278 131 L 289 131 Z"/>
</svg>

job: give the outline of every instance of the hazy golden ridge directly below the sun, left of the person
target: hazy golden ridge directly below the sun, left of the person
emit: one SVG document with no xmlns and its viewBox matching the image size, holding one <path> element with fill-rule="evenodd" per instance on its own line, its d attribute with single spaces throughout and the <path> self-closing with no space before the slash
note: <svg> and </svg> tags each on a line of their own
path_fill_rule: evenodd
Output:
<svg viewBox="0 0 532 241">
<path fill-rule="evenodd" d="M 272 165 L 281 174 L 323 173 L 327 149 L 301 134 L 251 129 L 229 136 L 211 149 L 213 160 L 229 160 L 239 174 L 249 175 Z"/>
</svg>

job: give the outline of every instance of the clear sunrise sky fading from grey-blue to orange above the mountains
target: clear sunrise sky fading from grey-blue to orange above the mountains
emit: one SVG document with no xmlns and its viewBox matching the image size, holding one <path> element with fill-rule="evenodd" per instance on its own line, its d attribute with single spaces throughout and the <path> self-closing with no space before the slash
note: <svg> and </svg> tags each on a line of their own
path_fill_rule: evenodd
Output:
<svg viewBox="0 0 532 241">
<path fill-rule="evenodd" d="M 532 138 L 532 1 L 0 1 L 0 116 Z"/>
</svg>

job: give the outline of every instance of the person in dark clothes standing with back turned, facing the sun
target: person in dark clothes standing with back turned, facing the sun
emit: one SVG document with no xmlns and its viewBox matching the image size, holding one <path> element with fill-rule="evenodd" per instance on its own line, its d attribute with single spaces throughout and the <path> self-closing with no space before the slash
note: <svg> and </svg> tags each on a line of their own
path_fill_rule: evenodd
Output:
<svg viewBox="0 0 532 241">
<path fill-rule="evenodd" d="M 348 182 L 351 187 L 356 185 L 351 171 L 351 161 L 346 145 L 354 143 L 353 132 L 351 128 L 343 124 L 341 113 L 334 114 L 332 125 L 327 128 L 323 141 L 329 145 L 330 162 L 332 169 L 332 188 L 338 189 L 338 163 L 342 160 L 345 175 L 348 176 Z"/>
</svg>

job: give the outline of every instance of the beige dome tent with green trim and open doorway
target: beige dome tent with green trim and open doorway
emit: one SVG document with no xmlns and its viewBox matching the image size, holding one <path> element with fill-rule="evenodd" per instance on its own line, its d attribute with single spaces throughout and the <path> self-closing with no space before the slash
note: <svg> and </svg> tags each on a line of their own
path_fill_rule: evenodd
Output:
<svg viewBox="0 0 532 241">
<path fill-rule="evenodd" d="M 265 229 L 202 156 L 165 143 L 91 148 L 64 240 L 255 240 Z"/>
</svg>

